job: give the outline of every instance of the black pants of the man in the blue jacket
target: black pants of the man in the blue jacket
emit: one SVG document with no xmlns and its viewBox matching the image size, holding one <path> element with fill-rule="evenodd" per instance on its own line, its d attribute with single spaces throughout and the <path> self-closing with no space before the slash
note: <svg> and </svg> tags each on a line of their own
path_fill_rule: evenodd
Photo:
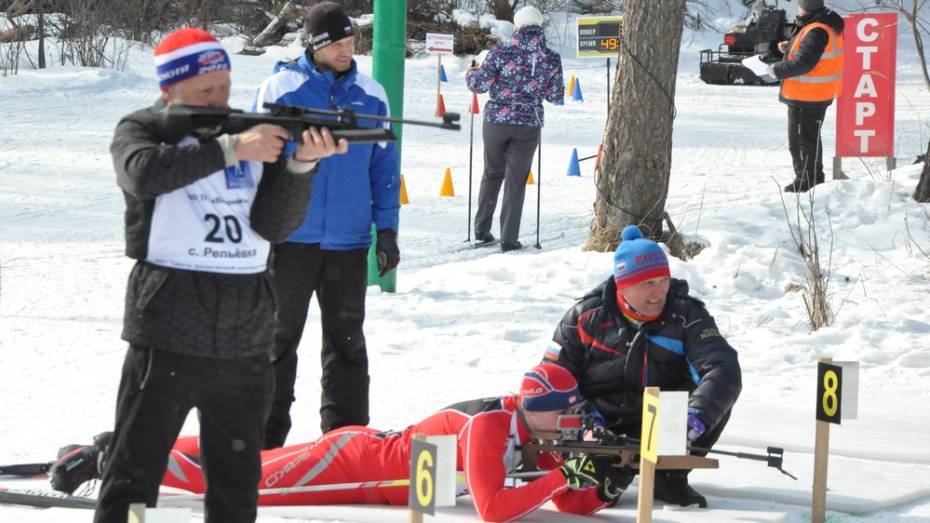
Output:
<svg viewBox="0 0 930 523">
<path fill-rule="evenodd" d="M 291 428 L 297 347 L 314 292 L 323 324 L 320 428 L 326 433 L 346 425 L 367 425 L 370 378 L 363 324 L 368 249 L 333 251 L 315 243 L 280 243 L 274 246 L 272 282 L 278 305 L 275 390 L 265 448 L 284 445 Z"/>
</svg>

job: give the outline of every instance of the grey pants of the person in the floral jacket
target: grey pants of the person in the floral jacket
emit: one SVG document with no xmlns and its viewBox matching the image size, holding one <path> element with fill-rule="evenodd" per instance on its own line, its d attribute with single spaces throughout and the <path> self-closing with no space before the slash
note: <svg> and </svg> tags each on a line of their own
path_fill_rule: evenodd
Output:
<svg viewBox="0 0 930 523">
<path fill-rule="evenodd" d="M 475 214 L 475 235 L 491 232 L 497 197 L 504 185 L 501 204 L 501 242 L 517 243 L 526 178 L 533 165 L 533 154 L 539 145 L 540 128 L 532 125 L 507 125 L 484 122 L 484 175 L 478 191 L 478 211 Z"/>
</svg>

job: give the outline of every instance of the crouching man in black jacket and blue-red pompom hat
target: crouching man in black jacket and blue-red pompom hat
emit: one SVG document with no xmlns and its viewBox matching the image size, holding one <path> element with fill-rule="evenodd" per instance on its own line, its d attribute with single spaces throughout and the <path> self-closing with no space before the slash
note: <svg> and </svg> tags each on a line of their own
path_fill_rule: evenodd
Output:
<svg viewBox="0 0 930 523">
<path fill-rule="evenodd" d="M 736 351 L 720 335 L 688 283 L 672 279 L 665 252 L 627 226 L 613 276 L 562 318 L 545 359 L 567 368 L 581 394 L 617 434 L 638 437 L 643 389 L 688 391 L 688 440 L 709 448 L 742 389 Z M 658 471 L 655 498 L 707 506 L 688 485 L 689 470 Z"/>
</svg>

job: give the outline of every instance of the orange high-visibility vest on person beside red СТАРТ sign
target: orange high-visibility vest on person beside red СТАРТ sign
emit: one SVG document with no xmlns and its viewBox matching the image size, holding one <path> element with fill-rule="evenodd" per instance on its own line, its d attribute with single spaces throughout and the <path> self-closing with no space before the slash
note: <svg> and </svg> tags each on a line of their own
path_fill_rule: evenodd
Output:
<svg viewBox="0 0 930 523">
<path fill-rule="evenodd" d="M 797 38 L 788 51 L 788 59 L 793 60 L 801 48 L 801 40 L 813 29 L 827 32 L 827 46 L 820 55 L 817 65 L 801 76 L 785 78 L 781 82 L 781 95 L 787 100 L 799 102 L 830 102 L 840 95 L 843 89 L 843 35 L 820 22 L 808 24 L 801 28 Z"/>
</svg>

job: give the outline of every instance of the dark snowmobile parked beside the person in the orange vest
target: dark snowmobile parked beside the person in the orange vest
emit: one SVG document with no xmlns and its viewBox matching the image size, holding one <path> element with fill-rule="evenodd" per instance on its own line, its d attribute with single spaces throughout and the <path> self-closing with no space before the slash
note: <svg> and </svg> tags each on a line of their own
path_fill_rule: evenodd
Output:
<svg viewBox="0 0 930 523">
<path fill-rule="evenodd" d="M 797 24 L 788 22 L 785 10 L 778 9 L 778 0 L 742 1 L 750 9 L 744 23 L 733 26 L 716 51 L 701 51 L 701 80 L 708 84 L 775 85 L 778 80 L 756 76 L 741 62 L 757 54 L 766 63 L 781 60 L 784 55 L 778 42 L 787 40 Z"/>
</svg>

